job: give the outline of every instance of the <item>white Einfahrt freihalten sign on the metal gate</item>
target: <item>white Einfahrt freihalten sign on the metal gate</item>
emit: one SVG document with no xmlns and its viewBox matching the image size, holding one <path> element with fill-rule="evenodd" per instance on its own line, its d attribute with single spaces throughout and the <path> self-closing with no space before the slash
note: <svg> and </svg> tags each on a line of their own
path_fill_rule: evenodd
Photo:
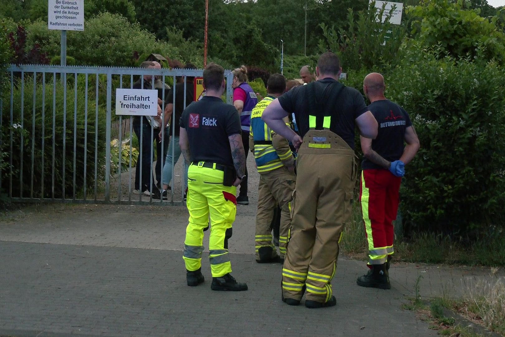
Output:
<svg viewBox="0 0 505 337">
<path fill-rule="evenodd" d="M 158 90 L 116 89 L 116 115 L 158 115 Z"/>
</svg>

